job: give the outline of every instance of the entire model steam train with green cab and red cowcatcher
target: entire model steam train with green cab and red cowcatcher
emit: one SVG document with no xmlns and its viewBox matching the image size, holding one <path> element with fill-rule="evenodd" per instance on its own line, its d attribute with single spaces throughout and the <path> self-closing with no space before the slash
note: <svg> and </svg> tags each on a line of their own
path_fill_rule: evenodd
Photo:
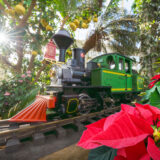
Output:
<svg viewBox="0 0 160 160">
<path fill-rule="evenodd" d="M 114 103 L 133 100 L 143 89 L 143 78 L 133 72 L 133 60 L 118 53 L 93 58 L 85 67 L 85 51 L 73 49 L 73 59 L 65 63 L 66 49 L 73 39 L 66 30 L 53 35 L 60 49 L 59 65 L 47 93 L 37 96 L 29 107 L 10 119 L 14 122 L 46 121 L 46 110 L 52 115 L 89 113 L 111 107 Z"/>
</svg>

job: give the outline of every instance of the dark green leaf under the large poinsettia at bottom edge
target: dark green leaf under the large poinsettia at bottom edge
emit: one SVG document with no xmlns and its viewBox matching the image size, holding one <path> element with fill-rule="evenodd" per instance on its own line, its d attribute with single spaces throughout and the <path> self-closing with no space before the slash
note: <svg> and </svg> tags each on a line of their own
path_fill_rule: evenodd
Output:
<svg viewBox="0 0 160 160">
<path fill-rule="evenodd" d="M 113 160 L 116 155 L 116 149 L 101 146 L 90 151 L 88 160 Z"/>
</svg>

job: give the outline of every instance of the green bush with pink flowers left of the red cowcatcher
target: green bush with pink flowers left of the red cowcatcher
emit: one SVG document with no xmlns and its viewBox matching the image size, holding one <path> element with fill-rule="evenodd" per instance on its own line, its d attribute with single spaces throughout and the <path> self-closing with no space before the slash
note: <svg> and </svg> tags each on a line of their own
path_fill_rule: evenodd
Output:
<svg viewBox="0 0 160 160">
<path fill-rule="evenodd" d="M 32 83 L 30 71 L 10 80 L 3 80 L 0 85 L 0 116 L 7 118 L 10 108 L 15 105 L 25 107 L 27 101 L 29 103 L 35 98 L 38 90 L 39 87 Z"/>
</svg>

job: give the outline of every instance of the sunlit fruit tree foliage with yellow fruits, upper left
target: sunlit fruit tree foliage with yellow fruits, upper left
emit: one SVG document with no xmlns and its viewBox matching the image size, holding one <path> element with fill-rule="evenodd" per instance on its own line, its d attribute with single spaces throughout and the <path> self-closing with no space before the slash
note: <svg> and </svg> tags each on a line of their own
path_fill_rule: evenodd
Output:
<svg viewBox="0 0 160 160">
<path fill-rule="evenodd" d="M 7 0 L 0 1 L 0 31 L 9 37 L 0 46 L 0 63 L 13 74 L 32 71 L 39 82 L 49 75 L 47 64 L 42 64 L 44 46 L 59 28 L 72 30 L 69 23 L 81 17 L 99 14 L 102 0 Z M 18 14 L 16 6 L 23 6 Z M 73 34 L 74 35 L 74 34 Z M 44 71 L 44 72 L 43 72 Z M 42 74 L 41 74 L 42 73 Z"/>
</svg>

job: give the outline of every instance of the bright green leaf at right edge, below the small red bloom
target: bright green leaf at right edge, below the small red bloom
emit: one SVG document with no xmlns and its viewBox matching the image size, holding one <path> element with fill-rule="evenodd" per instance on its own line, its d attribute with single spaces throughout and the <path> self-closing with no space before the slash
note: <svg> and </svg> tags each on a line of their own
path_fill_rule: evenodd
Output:
<svg viewBox="0 0 160 160">
<path fill-rule="evenodd" d="M 160 106 L 160 94 L 157 89 L 151 93 L 150 104 L 155 107 Z"/>
</svg>

